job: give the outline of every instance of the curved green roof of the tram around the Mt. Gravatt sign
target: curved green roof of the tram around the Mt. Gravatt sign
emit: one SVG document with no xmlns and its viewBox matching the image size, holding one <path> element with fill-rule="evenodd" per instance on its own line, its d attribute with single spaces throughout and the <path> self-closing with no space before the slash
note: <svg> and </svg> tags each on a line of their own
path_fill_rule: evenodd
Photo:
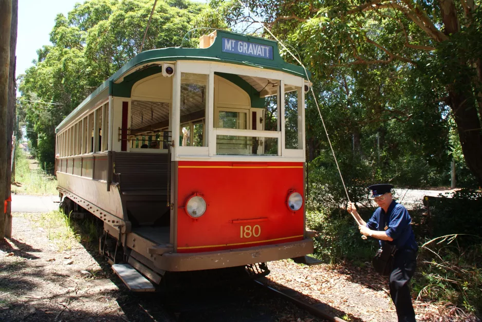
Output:
<svg viewBox="0 0 482 322">
<path fill-rule="evenodd" d="M 223 51 L 223 38 L 253 43 L 257 45 L 270 46 L 272 47 L 272 59 L 227 52 L 226 50 Z M 59 132 L 59 130 L 64 125 L 66 125 L 70 119 L 77 116 L 78 112 L 80 112 L 80 110 L 85 107 L 85 105 L 91 103 L 92 100 L 94 100 L 99 94 L 103 93 L 104 91 L 105 93 L 108 93 L 108 95 L 116 97 L 131 97 L 131 89 L 134 83 L 145 77 L 162 71 L 161 67 L 158 65 L 146 66 L 146 64 L 149 64 L 151 62 L 172 62 L 178 60 L 213 61 L 250 67 L 266 68 L 290 73 L 306 79 L 306 74 L 303 67 L 286 63 L 281 58 L 277 42 L 255 36 L 249 36 L 224 30 L 217 30 L 216 39 L 214 40 L 214 43 L 208 48 L 171 47 L 152 49 L 139 53 L 133 59 L 127 62 L 127 64 L 125 64 L 121 69 L 119 69 L 111 77 L 109 77 L 94 92 L 92 92 L 82 103 L 79 104 L 79 106 L 72 110 L 69 115 L 55 128 L 55 132 Z M 143 67 L 138 68 L 138 70 L 134 70 L 136 67 L 139 66 Z M 120 83 L 115 83 L 124 75 L 126 76 Z M 311 74 L 309 72 L 308 77 L 311 77 Z"/>
</svg>

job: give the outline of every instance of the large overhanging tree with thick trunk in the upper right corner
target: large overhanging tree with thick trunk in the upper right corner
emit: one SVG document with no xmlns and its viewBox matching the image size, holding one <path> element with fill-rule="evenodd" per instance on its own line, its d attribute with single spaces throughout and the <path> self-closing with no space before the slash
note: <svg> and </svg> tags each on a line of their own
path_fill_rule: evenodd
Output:
<svg viewBox="0 0 482 322">
<path fill-rule="evenodd" d="M 418 73 L 423 84 L 417 86 L 433 91 L 435 99 L 420 104 L 450 107 L 467 166 L 482 184 L 482 10 L 473 0 L 247 4 L 280 39 L 303 44 L 297 48 L 320 78 L 357 66 L 392 67 L 394 77 Z"/>
</svg>

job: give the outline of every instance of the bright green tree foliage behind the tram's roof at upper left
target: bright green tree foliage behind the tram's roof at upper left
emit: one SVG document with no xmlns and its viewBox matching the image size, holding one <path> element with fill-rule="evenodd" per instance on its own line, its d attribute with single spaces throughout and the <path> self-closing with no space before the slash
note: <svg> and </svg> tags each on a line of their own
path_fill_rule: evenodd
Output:
<svg viewBox="0 0 482 322">
<path fill-rule="evenodd" d="M 22 102 L 32 152 L 52 169 L 54 129 L 85 97 L 139 51 L 152 10 L 149 0 L 91 0 L 59 14 L 50 33 L 53 46 L 38 50 L 38 61 L 20 77 Z M 179 46 L 207 6 L 189 0 L 158 2 L 143 50 Z M 191 33 L 184 45 L 193 45 Z"/>
</svg>

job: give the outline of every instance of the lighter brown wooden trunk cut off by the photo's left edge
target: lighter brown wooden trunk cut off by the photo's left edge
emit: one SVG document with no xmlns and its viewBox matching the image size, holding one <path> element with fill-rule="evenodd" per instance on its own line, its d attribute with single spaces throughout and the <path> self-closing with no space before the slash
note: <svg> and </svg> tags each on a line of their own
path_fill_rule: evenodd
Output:
<svg viewBox="0 0 482 322">
<path fill-rule="evenodd" d="M 5 183 L 7 182 L 7 101 L 12 0 L 0 0 L 0 22 L 2 22 L 0 23 L 0 200 L 2 200 L 6 196 Z M 3 202 L 0 204 L 3 205 Z M 5 238 L 3 209 L 2 213 L 0 213 L 0 240 Z"/>
</svg>

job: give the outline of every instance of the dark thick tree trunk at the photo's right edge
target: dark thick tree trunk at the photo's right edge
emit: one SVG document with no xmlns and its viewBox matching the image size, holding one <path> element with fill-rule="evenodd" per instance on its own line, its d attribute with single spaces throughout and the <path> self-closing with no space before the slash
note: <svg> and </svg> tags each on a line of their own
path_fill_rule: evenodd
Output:
<svg viewBox="0 0 482 322">
<path fill-rule="evenodd" d="M 479 185 L 482 185 L 482 130 L 476 103 L 470 93 L 464 95 L 455 91 L 449 91 L 449 100 L 465 161 Z"/>
</svg>

